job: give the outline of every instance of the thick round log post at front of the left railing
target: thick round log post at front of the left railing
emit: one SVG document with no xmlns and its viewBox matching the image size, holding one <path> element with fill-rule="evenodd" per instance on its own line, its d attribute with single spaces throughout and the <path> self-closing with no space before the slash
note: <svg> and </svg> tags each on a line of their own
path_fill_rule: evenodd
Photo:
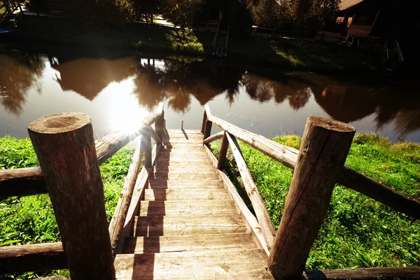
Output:
<svg viewBox="0 0 420 280">
<path fill-rule="evenodd" d="M 71 279 L 116 279 L 92 120 L 59 113 L 28 127 Z"/>
</svg>

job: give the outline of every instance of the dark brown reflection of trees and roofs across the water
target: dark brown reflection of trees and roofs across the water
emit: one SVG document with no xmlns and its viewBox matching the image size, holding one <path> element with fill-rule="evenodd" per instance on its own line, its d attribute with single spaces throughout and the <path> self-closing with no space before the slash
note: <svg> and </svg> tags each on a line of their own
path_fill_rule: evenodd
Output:
<svg viewBox="0 0 420 280">
<path fill-rule="evenodd" d="M 385 133 L 391 139 L 416 132 L 413 140 L 420 141 L 420 98 L 413 87 L 355 84 L 309 73 L 260 72 L 200 59 L 40 58 L 12 53 L 0 55 L 0 64 L 1 103 L 16 116 L 22 113 L 28 90 L 38 87 L 41 92 L 46 86 L 41 76 L 49 75 L 63 92 L 76 92 L 90 101 L 106 90 L 117 95 L 129 92 L 146 111 L 166 102 L 169 110 L 185 115 L 195 102 L 204 105 L 217 100 L 218 106 L 230 108 L 248 98 L 255 104 L 286 104 L 282 109 L 288 108 L 288 118 L 305 112 L 307 116 L 325 115 L 345 123 L 369 122 L 364 130 L 385 132 L 391 125 L 393 129 Z M 47 64 L 53 71 L 44 71 Z M 247 119 L 266 113 L 253 111 L 255 108 L 247 105 L 241 113 Z M 270 116 L 278 110 L 276 106 L 268 108 Z M 265 122 L 276 121 L 271 118 Z"/>
</svg>

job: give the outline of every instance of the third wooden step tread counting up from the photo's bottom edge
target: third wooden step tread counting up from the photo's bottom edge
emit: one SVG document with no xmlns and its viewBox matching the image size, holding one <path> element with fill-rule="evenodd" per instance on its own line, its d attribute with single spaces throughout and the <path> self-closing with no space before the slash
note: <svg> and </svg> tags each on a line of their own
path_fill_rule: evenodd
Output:
<svg viewBox="0 0 420 280">
<path fill-rule="evenodd" d="M 246 232 L 242 216 L 230 215 L 184 215 L 136 217 L 134 236 L 151 237 L 162 235 L 217 235 Z"/>
</svg>

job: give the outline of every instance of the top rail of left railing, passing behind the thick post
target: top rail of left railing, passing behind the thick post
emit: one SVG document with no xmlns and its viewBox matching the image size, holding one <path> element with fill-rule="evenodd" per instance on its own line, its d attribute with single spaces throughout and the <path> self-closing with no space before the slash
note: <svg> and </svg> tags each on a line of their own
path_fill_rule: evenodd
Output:
<svg viewBox="0 0 420 280">
<path fill-rule="evenodd" d="M 130 141 L 140 134 L 149 132 L 149 127 L 163 116 L 163 104 L 160 112 L 144 118 L 137 130 L 120 130 L 95 141 L 99 165 L 111 158 Z M 41 195 L 47 193 L 41 168 L 29 167 L 0 170 L 0 197 Z"/>
</svg>

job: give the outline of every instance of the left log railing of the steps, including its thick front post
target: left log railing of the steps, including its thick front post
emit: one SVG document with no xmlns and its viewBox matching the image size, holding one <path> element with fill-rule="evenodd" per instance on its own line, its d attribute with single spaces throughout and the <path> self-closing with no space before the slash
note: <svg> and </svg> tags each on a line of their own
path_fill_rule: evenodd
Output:
<svg viewBox="0 0 420 280">
<path fill-rule="evenodd" d="M 41 167 L 1 170 L 0 197 L 48 193 L 62 242 L 0 247 L 0 275 L 68 268 L 73 280 L 115 279 L 113 258 L 130 234 L 162 144 L 164 123 L 160 104 L 158 111 L 145 118 L 134 132 L 115 132 L 96 142 L 85 114 L 57 114 L 29 125 L 29 137 Z M 99 165 L 140 135 L 108 225 Z M 156 142 L 153 150 L 151 137 Z"/>
</svg>

